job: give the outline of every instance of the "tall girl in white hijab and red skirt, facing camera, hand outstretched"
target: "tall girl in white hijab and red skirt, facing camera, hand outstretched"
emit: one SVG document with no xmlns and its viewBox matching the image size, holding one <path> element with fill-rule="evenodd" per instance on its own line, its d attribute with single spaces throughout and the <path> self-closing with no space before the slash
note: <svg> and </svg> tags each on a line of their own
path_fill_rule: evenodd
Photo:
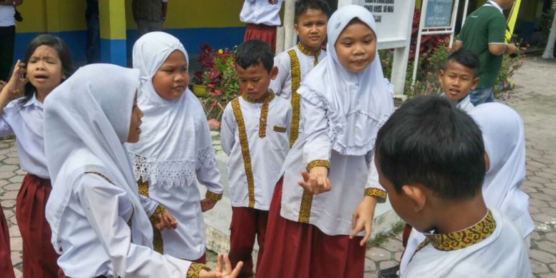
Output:
<svg viewBox="0 0 556 278">
<path fill-rule="evenodd" d="M 342 7 L 328 22 L 328 38 L 329 56 L 298 91 L 302 137 L 274 191 L 261 277 L 362 277 L 374 206 L 386 198 L 374 140 L 393 100 L 373 15 L 361 6 Z M 364 237 L 351 240 L 363 229 Z"/>
</svg>

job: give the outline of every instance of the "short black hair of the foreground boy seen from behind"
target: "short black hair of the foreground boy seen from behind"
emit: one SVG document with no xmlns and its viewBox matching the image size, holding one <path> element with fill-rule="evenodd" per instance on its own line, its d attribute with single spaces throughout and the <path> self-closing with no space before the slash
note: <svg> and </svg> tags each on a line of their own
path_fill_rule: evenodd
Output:
<svg viewBox="0 0 556 278">
<path fill-rule="evenodd" d="M 398 193 L 418 182 L 443 199 L 465 200 L 483 186 L 483 135 L 447 98 L 416 97 L 401 105 L 379 130 L 375 150 Z"/>
</svg>

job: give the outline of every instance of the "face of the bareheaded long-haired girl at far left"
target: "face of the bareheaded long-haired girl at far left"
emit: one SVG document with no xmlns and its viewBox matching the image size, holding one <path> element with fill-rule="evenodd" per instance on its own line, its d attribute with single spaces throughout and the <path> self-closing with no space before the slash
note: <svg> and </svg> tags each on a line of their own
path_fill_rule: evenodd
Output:
<svg viewBox="0 0 556 278">
<path fill-rule="evenodd" d="M 29 82 L 35 86 L 37 93 L 48 94 L 60 85 L 62 62 L 56 49 L 51 46 L 38 46 L 27 63 L 26 73 Z"/>
</svg>

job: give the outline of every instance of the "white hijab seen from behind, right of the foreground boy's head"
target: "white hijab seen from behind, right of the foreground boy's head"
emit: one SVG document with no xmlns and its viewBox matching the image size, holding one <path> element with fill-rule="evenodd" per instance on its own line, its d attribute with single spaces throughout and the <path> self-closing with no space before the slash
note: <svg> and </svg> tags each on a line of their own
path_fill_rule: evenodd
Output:
<svg viewBox="0 0 556 278">
<path fill-rule="evenodd" d="M 483 131 L 490 168 L 483 197 L 513 221 L 523 238 L 535 230 L 529 196 L 520 189 L 525 180 L 525 135 L 518 113 L 502 103 L 484 103 L 469 113 Z"/>
</svg>

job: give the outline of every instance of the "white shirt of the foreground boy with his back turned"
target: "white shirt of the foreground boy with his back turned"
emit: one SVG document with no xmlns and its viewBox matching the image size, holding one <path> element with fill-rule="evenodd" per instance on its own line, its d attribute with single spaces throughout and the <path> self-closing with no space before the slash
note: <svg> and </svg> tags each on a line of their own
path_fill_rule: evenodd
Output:
<svg viewBox="0 0 556 278">
<path fill-rule="evenodd" d="M 413 258 L 401 269 L 401 277 L 532 277 L 529 255 L 520 232 L 498 210 L 491 212 L 495 230 L 480 242 L 449 251 L 436 249 L 431 243 L 417 252 L 410 253 L 406 249 L 403 258 Z M 413 235 L 412 232 L 410 240 Z M 470 233 L 467 239 L 478 235 Z"/>
</svg>

